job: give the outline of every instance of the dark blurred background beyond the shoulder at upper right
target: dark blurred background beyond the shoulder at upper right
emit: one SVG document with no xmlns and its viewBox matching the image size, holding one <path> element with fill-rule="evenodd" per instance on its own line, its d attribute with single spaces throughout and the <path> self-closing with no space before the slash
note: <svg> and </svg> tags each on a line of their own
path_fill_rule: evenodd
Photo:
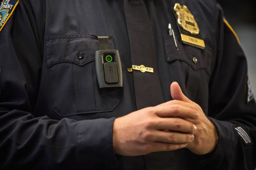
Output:
<svg viewBox="0 0 256 170">
<path fill-rule="evenodd" d="M 248 63 L 249 78 L 256 93 L 256 0 L 217 0 L 235 30 Z"/>
</svg>

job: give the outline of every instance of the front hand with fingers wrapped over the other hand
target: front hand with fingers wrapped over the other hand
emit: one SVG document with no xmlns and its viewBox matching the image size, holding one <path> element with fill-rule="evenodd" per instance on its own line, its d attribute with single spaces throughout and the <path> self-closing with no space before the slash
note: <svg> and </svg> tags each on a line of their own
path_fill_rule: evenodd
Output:
<svg viewBox="0 0 256 170">
<path fill-rule="evenodd" d="M 124 156 L 184 148 L 194 140 L 196 127 L 188 120 L 199 117 L 193 109 L 163 103 L 115 119 L 113 148 Z"/>
</svg>

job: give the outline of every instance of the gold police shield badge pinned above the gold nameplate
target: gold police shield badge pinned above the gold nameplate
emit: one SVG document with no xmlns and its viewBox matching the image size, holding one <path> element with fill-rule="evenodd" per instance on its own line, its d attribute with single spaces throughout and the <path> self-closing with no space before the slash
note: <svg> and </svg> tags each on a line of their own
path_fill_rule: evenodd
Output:
<svg viewBox="0 0 256 170">
<path fill-rule="evenodd" d="M 173 9 L 176 12 L 179 25 L 184 30 L 190 32 L 191 34 L 199 34 L 198 24 L 187 6 L 181 6 L 179 3 L 176 3 Z"/>
</svg>

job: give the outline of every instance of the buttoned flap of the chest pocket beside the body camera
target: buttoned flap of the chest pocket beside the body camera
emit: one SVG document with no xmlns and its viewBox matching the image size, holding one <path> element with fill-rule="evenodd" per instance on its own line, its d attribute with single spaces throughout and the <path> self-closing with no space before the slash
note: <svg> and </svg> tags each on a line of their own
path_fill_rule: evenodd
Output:
<svg viewBox="0 0 256 170">
<path fill-rule="evenodd" d="M 99 45 L 98 38 L 91 34 L 51 36 L 45 38 L 45 49 L 48 67 L 62 62 L 82 66 L 95 60 Z M 81 59 L 77 57 L 79 52 L 83 53 Z"/>
</svg>

